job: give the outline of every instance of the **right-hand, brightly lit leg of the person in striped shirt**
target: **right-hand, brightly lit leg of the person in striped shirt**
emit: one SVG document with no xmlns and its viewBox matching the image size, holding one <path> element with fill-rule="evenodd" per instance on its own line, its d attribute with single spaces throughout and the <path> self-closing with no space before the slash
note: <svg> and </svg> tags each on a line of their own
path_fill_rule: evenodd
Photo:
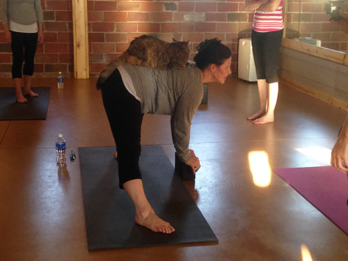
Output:
<svg viewBox="0 0 348 261">
<path fill-rule="evenodd" d="M 264 41 L 264 71 L 267 81 L 267 110 L 264 116 L 255 119 L 253 123 L 263 124 L 274 122 L 274 110 L 278 100 L 278 54 L 283 37 L 283 30 L 265 33 Z"/>
</svg>

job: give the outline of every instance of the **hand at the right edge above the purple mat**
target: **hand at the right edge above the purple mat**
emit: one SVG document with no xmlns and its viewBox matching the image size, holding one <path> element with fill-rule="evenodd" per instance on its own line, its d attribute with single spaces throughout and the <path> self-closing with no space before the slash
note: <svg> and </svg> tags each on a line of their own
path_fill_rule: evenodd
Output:
<svg viewBox="0 0 348 261">
<path fill-rule="evenodd" d="M 338 171 L 348 171 L 348 137 L 340 135 L 331 151 L 331 165 Z"/>
</svg>

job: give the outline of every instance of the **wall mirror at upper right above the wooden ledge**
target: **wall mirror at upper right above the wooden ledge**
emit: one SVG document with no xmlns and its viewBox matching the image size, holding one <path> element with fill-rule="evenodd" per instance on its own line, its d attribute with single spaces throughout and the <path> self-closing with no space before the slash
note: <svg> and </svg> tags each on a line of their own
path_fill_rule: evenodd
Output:
<svg viewBox="0 0 348 261">
<path fill-rule="evenodd" d="M 347 53 L 348 34 L 335 23 L 339 10 L 348 13 L 348 0 L 287 0 L 285 38 Z"/>
</svg>

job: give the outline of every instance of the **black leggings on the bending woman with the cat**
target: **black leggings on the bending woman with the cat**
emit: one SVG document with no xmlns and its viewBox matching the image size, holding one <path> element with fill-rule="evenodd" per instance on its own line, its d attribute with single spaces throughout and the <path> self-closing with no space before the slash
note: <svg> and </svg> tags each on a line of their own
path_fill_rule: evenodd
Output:
<svg viewBox="0 0 348 261">
<path fill-rule="evenodd" d="M 120 189 L 123 189 L 123 183 L 141 179 L 141 104 L 125 88 L 118 70 L 115 70 L 102 86 L 102 100 L 116 143 L 118 179 Z"/>
</svg>

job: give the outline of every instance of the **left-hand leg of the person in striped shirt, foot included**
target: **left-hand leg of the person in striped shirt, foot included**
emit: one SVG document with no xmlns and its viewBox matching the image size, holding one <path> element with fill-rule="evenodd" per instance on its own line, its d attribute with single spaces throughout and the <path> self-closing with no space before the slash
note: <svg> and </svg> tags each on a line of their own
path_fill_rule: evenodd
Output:
<svg viewBox="0 0 348 261">
<path fill-rule="evenodd" d="M 260 98 L 260 109 L 252 116 L 248 116 L 248 120 L 255 120 L 264 116 L 267 111 L 268 86 L 266 75 L 264 72 L 264 54 L 263 54 L 263 33 L 252 32 L 251 42 L 253 46 L 253 57 L 255 62 L 256 75 L 258 78 L 258 93 Z"/>
</svg>

